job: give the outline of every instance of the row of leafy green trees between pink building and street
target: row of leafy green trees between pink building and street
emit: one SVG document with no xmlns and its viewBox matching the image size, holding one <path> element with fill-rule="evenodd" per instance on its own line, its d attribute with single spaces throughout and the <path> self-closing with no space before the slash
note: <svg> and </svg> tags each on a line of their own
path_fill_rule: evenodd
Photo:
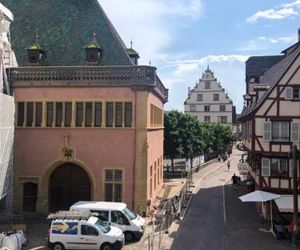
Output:
<svg viewBox="0 0 300 250">
<path fill-rule="evenodd" d="M 234 140 L 226 124 L 202 123 L 197 118 L 178 111 L 164 116 L 164 152 L 172 160 L 176 157 L 193 159 L 195 156 L 213 151 L 227 151 Z"/>
</svg>

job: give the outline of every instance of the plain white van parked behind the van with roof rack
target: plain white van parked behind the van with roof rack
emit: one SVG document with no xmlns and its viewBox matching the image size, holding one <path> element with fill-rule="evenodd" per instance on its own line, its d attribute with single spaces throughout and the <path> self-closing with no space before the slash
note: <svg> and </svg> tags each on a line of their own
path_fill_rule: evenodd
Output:
<svg viewBox="0 0 300 250">
<path fill-rule="evenodd" d="M 70 207 L 71 211 L 95 212 L 98 217 L 112 225 L 120 228 L 124 235 L 125 241 L 129 242 L 134 239 L 139 240 L 145 229 L 145 220 L 130 210 L 126 203 L 106 202 L 106 201 L 78 201 Z"/>
</svg>

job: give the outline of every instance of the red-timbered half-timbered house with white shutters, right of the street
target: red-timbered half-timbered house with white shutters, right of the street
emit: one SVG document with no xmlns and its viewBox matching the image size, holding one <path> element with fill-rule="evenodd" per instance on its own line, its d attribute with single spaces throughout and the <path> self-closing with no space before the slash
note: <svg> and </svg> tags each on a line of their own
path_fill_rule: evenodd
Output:
<svg viewBox="0 0 300 250">
<path fill-rule="evenodd" d="M 257 188 L 291 194 L 290 152 L 293 145 L 300 147 L 299 42 L 283 53 L 281 60 L 254 84 L 256 91 L 248 99 L 239 121 Z M 299 159 L 297 172 L 299 177 Z"/>
</svg>

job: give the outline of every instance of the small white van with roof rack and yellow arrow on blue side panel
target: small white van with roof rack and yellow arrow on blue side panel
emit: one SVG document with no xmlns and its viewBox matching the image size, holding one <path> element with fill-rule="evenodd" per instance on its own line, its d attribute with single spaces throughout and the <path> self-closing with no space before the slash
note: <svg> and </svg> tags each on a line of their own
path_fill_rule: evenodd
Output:
<svg viewBox="0 0 300 250">
<path fill-rule="evenodd" d="M 88 211 L 59 211 L 50 214 L 49 246 L 63 249 L 121 249 L 125 244 L 124 234 L 117 227 L 103 223 Z"/>
</svg>

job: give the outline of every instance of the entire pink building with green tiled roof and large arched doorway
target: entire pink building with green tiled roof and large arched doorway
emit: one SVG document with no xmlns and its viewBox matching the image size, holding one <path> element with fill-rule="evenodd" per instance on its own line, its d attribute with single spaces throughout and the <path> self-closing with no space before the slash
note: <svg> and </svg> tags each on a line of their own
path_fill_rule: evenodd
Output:
<svg viewBox="0 0 300 250">
<path fill-rule="evenodd" d="M 15 210 L 106 200 L 146 212 L 163 186 L 168 91 L 156 68 L 137 65 L 97 0 L 2 2 L 21 65 L 9 74 Z"/>
</svg>

